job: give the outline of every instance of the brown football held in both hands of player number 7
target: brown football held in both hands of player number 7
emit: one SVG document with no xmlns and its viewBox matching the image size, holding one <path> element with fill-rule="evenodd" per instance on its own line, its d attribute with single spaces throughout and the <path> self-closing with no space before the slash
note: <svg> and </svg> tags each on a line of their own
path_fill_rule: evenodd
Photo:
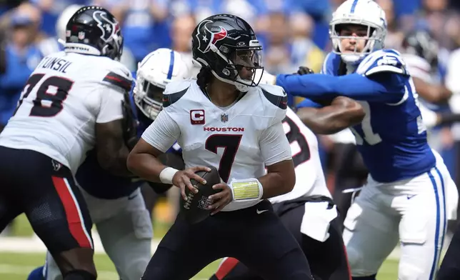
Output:
<svg viewBox="0 0 460 280">
<path fill-rule="evenodd" d="M 219 184 L 221 177 L 219 176 L 219 171 L 214 166 L 208 166 L 211 171 L 198 171 L 196 175 L 206 180 L 206 184 L 201 184 L 194 179 L 191 179 L 191 184 L 198 189 L 198 192 L 194 194 L 188 188 L 185 188 L 185 194 L 187 200 L 184 201 L 181 198 L 181 212 L 184 214 L 186 221 L 190 224 L 196 224 L 200 221 L 204 221 L 211 210 L 208 209 L 208 206 L 211 204 L 211 201 L 208 199 L 212 194 L 216 194 L 221 190 L 214 190 L 212 186 Z"/>
</svg>

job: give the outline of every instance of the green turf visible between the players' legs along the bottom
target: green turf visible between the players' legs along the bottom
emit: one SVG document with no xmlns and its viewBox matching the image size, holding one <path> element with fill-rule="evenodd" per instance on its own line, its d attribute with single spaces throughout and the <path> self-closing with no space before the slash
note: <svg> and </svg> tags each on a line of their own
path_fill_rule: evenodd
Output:
<svg viewBox="0 0 460 280">
<path fill-rule="evenodd" d="M 155 223 L 155 236 L 163 236 L 167 231 L 168 225 L 164 223 Z M 32 231 L 29 222 L 25 216 L 21 215 L 16 219 L 14 227 L 14 236 L 31 236 Z M 1 249 L 0 249 L 1 250 Z M 96 254 L 94 256 L 96 268 L 98 269 L 100 280 L 117 280 L 118 276 L 111 264 L 110 259 L 105 254 Z M 25 280 L 29 272 L 37 266 L 44 263 L 44 254 L 21 254 L 21 253 L 4 253 L 0 251 L 0 279 L 2 280 Z M 209 264 L 203 271 L 197 274 L 194 280 L 209 279 L 214 271 L 216 271 L 219 261 Z M 379 274 L 378 280 L 394 280 L 397 279 L 398 263 L 397 260 L 389 259 L 384 263 Z"/>
</svg>

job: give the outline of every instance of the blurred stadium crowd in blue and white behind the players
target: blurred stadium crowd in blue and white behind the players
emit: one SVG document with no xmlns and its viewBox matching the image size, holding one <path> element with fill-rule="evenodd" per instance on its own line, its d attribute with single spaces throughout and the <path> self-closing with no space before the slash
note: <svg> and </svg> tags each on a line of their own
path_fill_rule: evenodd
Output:
<svg viewBox="0 0 460 280">
<path fill-rule="evenodd" d="M 427 102 L 434 111 L 460 113 L 460 1 L 376 0 L 386 11 L 386 47 L 401 49 L 404 36 L 429 31 L 437 54 L 434 83 L 452 96 Z M 122 62 L 132 71 L 146 54 L 167 47 L 191 57 L 191 31 L 211 14 L 241 16 L 254 26 L 264 46 L 264 66 L 271 74 L 291 73 L 301 66 L 319 72 L 331 49 L 329 19 L 341 0 L 32 0 L 0 3 L 0 131 L 16 107 L 21 90 L 42 57 L 61 49 L 65 25 L 79 5 L 109 9 L 122 24 Z M 342 190 L 359 187 L 366 169 L 354 149 L 354 137 L 319 136 L 329 188 L 337 204 Z M 460 124 L 431 130 L 431 146 L 439 151 L 460 186 Z M 336 191 L 334 191 L 336 190 Z"/>
</svg>

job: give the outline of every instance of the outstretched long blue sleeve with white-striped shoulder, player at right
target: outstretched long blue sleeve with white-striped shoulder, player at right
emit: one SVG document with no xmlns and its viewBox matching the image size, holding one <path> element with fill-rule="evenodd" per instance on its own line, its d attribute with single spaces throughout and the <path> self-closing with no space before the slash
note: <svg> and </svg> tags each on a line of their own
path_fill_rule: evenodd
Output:
<svg viewBox="0 0 460 280">
<path fill-rule="evenodd" d="M 324 62 L 324 74 L 278 75 L 276 85 L 288 94 L 314 100 L 346 96 L 395 103 L 404 96 L 409 75 L 397 51 L 376 51 L 361 61 L 355 74 L 335 76 L 339 74 L 340 60 L 339 55 L 329 54 Z"/>
</svg>

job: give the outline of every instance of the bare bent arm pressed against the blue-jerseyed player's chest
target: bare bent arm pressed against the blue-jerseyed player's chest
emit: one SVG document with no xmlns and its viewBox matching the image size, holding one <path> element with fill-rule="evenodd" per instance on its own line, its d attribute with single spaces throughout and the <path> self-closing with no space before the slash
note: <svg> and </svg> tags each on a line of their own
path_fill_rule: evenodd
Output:
<svg viewBox="0 0 460 280">
<path fill-rule="evenodd" d="M 344 96 L 336 97 L 329 106 L 305 99 L 297 108 L 297 116 L 315 134 L 334 134 L 359 124 L 365 115 L 359 103 Z"/>
</svg>

